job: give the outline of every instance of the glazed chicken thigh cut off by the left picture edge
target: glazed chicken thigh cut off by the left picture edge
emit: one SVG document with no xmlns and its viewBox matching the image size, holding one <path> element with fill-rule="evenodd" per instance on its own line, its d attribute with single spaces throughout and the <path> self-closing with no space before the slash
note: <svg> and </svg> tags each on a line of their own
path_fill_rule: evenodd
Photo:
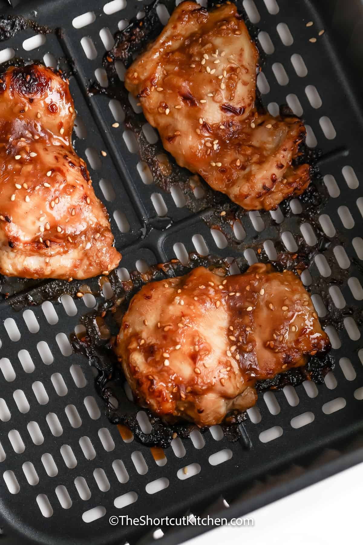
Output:
<svg viewBox="0 0 363 545">
<path fill-rule="evenodd" d="M 0 77 L 0 273 L 89 278 L 121 259 L 107 211 L 72 148 L 69 86 L 41 65 Z"/>
</svg>

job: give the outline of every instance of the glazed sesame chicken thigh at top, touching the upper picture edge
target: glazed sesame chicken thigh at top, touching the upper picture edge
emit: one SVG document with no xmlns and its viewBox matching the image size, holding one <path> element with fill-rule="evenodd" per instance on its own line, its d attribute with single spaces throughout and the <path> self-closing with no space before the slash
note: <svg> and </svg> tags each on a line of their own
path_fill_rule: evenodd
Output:
<svg viewBox="0 0 363 545">
<path fill-rule="evenodd" d="M 207 11 L 183 2 L 125 76 L 146 119 L 177 163 L 247 210 L 275 209 L 302 193 L 295 167 L 305 128 L 257 111 L 257 50 L 236 6 Z"/>
</svg>

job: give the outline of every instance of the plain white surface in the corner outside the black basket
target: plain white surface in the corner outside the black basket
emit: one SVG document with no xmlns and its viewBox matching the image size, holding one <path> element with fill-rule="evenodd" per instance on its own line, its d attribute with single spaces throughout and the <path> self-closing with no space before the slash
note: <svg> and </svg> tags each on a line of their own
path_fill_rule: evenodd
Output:
<svg viewBox="0 0 363 545">
<path fill-rule="evenodd" d="M 300 490 L 245 518 L 254 526 L 223 526 L 188 545 L 345 545 L 362 543 L 363 463 Z"/>
</svg>

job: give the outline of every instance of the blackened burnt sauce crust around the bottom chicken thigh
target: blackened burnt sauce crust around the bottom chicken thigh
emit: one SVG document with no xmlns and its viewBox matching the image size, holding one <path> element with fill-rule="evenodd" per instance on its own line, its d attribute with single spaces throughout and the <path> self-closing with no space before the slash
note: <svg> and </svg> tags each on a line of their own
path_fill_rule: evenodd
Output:
<svg viewBox="0 0 363 545">
<path fill-rule="evenodd" d="M 243 263 L 242 258 L 237 259 L 237 263 L 241 268 L 241 272 L 248 268 L 248 265 Z M 280 271 L 286 268 L 285 264 L 281 262 L 274 262 L 273 264 Z M 96 311 L 82 317 L 81 323 L 85 326 L 85 335 L 81 338 L 78 338 L 76 334 L 71 335 L 73 351 L 83 354 L 88 359 L 89 364 L 96 367 L 98 371 L 95 378 L 95 387 L 106 404 L 105 414 L 110 423 L 127 426 L 136 439 L 146 446 L 165 448 L 170 445 L 171 440 L 175 437 L 189 437 L 189 433 L 196 426 L 190 422 L 175 423 L 173 425 L 165 424 L 162 419 L 153 415 L 150 410 L 141 408 L 127 399 L 124 391 L 126 379 L 112 349 L 113 338 L 119 331 L 122 317 L 133 295 L 144 284 L 184 275 L 200 265 L 213 271 L 218 270 L 220 274 L 228 274 L 229 264 L 226 263 L 225 259 L 213 256 L 201 257 L 195 253 L 190 254 L 187 265 L 173 259 L 168 263 L 153 265 L 146 273 L 133 272 L 129 281 L 112 283 L 115 292 L 112 300 L 104 302 Z M 112 281 L 112 275 L 109 280 Z M 257 383 L 257 392 L 270 389 L 280 390 L 286 385 L 297 386 L 304 380 L 322 383 L 325 374 L 333 368 L 334 359 L 331 355 L 312 356 L 305 367 L 294 368 L 277 375 L 273 379 L 260 381 Z M 114 407 L 112 398 L 118 400 L 118 408 Z M 149 434 L 141 430 L 137 421 L 136 416 L 140 410 L 144 410 L 149 416 L 152 425 L 152 431 Z M 231 411 L 227 414 L 221 426 L 228 440 L 241 440 L 242 444 L 248 447 L 248 442 L 246 443 L 244 439 L 245 433 L 242 425 L 246 417 L 246 413 Z M 205 433 L 208 427 L 198 429 L 201 433 Z"/>
</svg>

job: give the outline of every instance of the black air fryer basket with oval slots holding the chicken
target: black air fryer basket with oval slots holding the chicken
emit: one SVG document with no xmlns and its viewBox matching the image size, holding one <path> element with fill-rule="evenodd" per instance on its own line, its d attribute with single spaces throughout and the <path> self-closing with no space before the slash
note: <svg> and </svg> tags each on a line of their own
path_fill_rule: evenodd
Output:
<svg viewBox="0 0 363 545">
<path fill-rule="evenodd" d="M 156 528 L 112 526 L 109 517 L 242 516 L 363 458 L 363 116 L 361 74 L 355 72 L 361 66 L 355 47 L 361 4 L 236 3 L 247 11 L 250 31 L 264 50 L 263 103 L 275 113 L 287 102 L 303 116 L 317 167 L 306 194 L 274 213 L 243 213 L 189 179 L 170 158 L 156 161 L 161 144 L 117 79 L 122 59 L 159 32 L 162 5 L 170 13 L 174 0 L 161 0 L 157 11 L 146 9 L 141 40 L 138 34 L 134 45 L 122 49 L 131 34 L 116 38 L 119 47 L 109 55 L 112 35 L 138 13 L 142 17 L 143 2 L 3 3 L 0 38 L 9 50 L 1 60 L 15 54 L 50 64 L 51 54 L 70 77 L 75 148 L 88 158 L 123 255 L 110 283 L 1 280 L 0 511 L 7 543 L 150 543 Z M 85 19 L 75 20 L 84 13 Z M 39 33 L 38 47 L 24 49 L 24 40 Z M 109 423 L 93 368 L 72 353 L 69 338 L 75 328 L 82 337 L 83 315 L 96 303 L 107 306 L 127 271 L 195 251 L 234 257 L 240 268 L 260 259 L 301 265 L 300 272 L 306 264 L 302 278 L 329 332 L 335 368 L 321 385 L 306 380 L 296 389 L 260 393 L 235 442 L 213 427 L 174 440 L 164 453 L 152 452 L 125 430 L 122 439 Z M 95 297 L 77 298 L 84 284 Z M 206 529 L 162 528 L 158 541 L 179 543 Z"/>
</svg>

